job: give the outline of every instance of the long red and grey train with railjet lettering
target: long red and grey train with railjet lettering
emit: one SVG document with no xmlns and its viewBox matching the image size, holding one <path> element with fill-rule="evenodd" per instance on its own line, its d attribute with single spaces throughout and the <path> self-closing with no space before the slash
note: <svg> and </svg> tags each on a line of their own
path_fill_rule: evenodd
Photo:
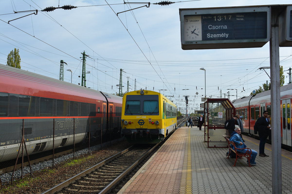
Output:
<svg viewBox="0 0 292 194">
<path fill-rule="evenodd" d="M 121 129 L 122 97 L 0 64 L 0 161 L 98 138 Z M 54 122 L 55 123 L 54 123 Z M 73 130 L 74 129 L 74 130 Z"/>
</svg>

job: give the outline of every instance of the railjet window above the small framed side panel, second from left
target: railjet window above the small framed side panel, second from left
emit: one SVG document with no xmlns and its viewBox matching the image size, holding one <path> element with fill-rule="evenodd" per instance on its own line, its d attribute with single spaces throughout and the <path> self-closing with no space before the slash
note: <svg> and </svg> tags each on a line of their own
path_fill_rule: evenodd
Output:
<svg viewBox="0 0 292 194">
<path fill-rule="evenodd" d="M 18 116 L 34 116 L 35 115 L 36 97 L 34 96 L 18 96 Z"/>
</svg>

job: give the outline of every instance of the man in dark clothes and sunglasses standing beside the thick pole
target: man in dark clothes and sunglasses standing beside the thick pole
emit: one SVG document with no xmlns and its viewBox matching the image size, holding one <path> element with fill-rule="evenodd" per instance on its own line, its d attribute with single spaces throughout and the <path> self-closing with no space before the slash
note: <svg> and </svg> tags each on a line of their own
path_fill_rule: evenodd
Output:
<svg viewBox="0 0 292 194">
<path fill-rule="evenodd" d="M 260 137 L 260 154 L 261 157 L 267 157 L 268 155 L 265 154 L 265 143 L 267 137 L 269 135 L 269 130 L 271 129 L 270 123 L 267 119 L 268 111 L 264 111 L 263 116 L 258 118 L 256 121 L 256 128 L 258 129 L 258 136 Z"/>
</svg>

